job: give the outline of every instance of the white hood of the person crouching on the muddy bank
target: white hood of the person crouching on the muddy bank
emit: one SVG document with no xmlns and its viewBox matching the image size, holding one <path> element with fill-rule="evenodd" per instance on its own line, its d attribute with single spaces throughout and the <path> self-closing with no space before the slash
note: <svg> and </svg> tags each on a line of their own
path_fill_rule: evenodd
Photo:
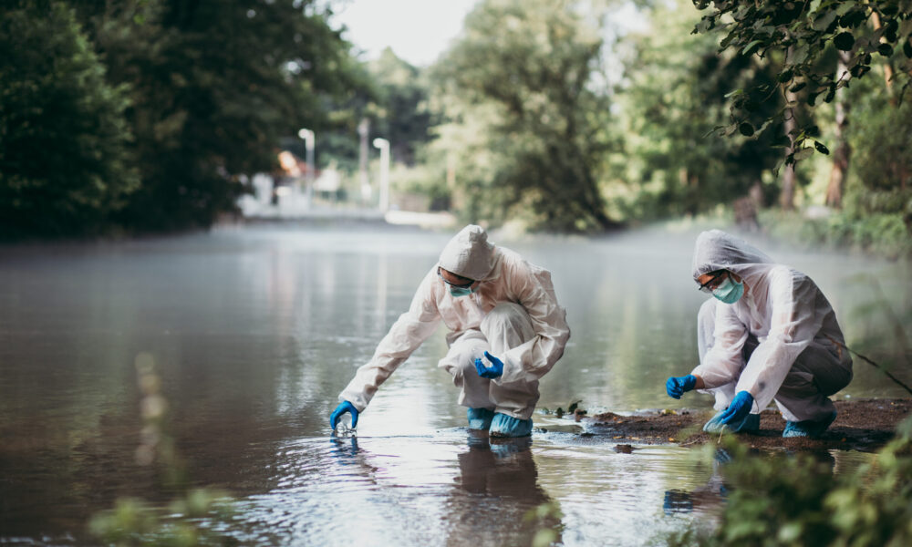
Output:
<svg viewBox="0 0 912 547">
<path fill-rule="evenodd" d="M 770 270 L 772 258 L 751 243 L 721 230 L 702 232 L 693 250 L 693 279 L 716 270 L 728 270 L 751 284 L 752 278 Z"/>
</svg>

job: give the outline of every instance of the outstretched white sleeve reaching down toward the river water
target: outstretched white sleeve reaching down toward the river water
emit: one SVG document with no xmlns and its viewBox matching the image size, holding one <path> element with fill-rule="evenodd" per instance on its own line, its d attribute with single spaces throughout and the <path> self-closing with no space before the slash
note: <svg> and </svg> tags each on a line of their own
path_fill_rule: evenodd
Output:
<svg viewBox="0 0 912 547">
<path fill-rule="evenodd" d="M 436 267 L 425 275 L 411 300 L 409 311 L 399 315 L 389 333 L 380 340 L 374 356 L 358 368 L 355 377 L 339 394 L 340 401 L 350 401 L 358 412 L 364 410 L 378 387 L 433 334 L 440 324 L 440 313 L 433 294 L 435 280 Z"/>
</svg>

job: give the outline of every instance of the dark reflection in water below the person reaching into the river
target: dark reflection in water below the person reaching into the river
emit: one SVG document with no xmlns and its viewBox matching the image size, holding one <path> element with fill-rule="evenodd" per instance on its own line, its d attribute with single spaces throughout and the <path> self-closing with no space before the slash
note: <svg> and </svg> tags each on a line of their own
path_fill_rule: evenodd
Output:
<svg viewBox="0 0 912 547">
<path fill-rule="evenodd" d="M 543 528 L 560 533 L 558 519 L 526 518 L 551 501 L 538 485 L 531 446 L 528 437 L 493 442 L 486 435 L 470 437 L 469 449 L 459 454 L 459 486 L 448 503 L 447 512 L 456 517 L 448 545 L 531 545 Z"/>
</svg>

